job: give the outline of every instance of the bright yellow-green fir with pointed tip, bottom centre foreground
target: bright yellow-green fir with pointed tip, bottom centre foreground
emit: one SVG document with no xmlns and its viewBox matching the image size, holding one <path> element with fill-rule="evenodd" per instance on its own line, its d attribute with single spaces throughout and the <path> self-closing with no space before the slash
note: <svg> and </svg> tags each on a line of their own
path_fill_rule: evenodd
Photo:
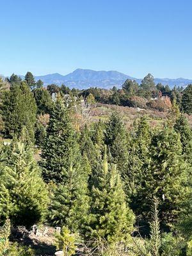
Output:
<svg viewBox="0 0 192 256">
<path fill-rule="evenodd" d="M 98 183 L 92 188 L 92 237 L 101 237 L 109 243 L 124 241 L 132 231 L 134 215 L 125 203 L 120 175 L 116 166 L 109 167 L 106 154 L 97 173 Z"/>
</svg>

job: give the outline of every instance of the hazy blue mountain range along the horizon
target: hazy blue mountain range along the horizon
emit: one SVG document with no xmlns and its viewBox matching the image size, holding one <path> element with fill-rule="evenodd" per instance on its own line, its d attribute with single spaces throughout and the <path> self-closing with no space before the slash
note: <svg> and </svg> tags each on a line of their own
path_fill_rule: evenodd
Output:
<svg viewBox="0 0 192 256">
<path fill-rule="evenodd" d="M 23 78 L 23 76 L 20 76 Z M 86 89 L 92 87 L 99 88 L 112 88 L 116 86 L 121 88 L 122 84 L 126 79 L 136 80 L 138 83 L 141 83 L 142 79 L 135 77 L 127 76 L 123 73 L 117 71 L 94 71 L 89 69 L 78 68 L 74 72 L 62 76 L 61 74 L 54 73 L 48 74 L 45 76 L 35 76 L 35 80 L 41 79 L 45 85 L 47 84 L 65 84 L 70 88 L 79 88 Z M 173 86 L 183 86 L 186 87 L 188 84 L 192 83 L 192 79 L 170 79 L 170 78 L 155 78 L 155 83 L 168 84 L 171 88 Z"/>
</svg>

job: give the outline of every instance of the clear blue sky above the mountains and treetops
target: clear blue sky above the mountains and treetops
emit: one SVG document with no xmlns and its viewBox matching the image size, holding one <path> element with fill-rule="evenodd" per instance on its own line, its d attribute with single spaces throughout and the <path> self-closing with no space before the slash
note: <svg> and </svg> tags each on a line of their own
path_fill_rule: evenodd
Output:
<svg viewBox="0 0 192 256">
<path fill-rule="evenodd" d="M 192 1 L 1 0 L 0 74 L 192 79 Z"/>
</svg>

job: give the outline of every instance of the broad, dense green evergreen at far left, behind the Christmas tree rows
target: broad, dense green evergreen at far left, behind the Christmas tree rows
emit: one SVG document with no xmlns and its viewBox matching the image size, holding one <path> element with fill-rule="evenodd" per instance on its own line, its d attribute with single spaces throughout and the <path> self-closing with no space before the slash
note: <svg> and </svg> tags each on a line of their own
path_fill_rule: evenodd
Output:
<svg viewBox="0 0 192 256">
<path fill-rule="evenodd" d="M 26 126 L 31 141 L 34 140 L 36 122 L 36 104 L 33 93 L 26 83 L 11 86 L 10 92 L 6 92 L 1 106 L 6 135 L 19 137 L 22 128 Z"/>
</svg>

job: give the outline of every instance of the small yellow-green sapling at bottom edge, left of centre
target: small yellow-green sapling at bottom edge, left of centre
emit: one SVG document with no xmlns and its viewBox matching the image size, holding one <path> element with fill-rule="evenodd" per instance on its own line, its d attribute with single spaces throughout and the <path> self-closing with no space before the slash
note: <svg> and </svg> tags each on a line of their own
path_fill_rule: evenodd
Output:
<svg viewBox="0 0 192 256">
<path fill-rule="evenodd" d="M 72 256 L 76 252 L 77 235 L 71 234 L 67 227 L 61 228 L 61 233 L 56 232 L 56 247 L 63 250 L 63 256 Z"/>
</svg>

